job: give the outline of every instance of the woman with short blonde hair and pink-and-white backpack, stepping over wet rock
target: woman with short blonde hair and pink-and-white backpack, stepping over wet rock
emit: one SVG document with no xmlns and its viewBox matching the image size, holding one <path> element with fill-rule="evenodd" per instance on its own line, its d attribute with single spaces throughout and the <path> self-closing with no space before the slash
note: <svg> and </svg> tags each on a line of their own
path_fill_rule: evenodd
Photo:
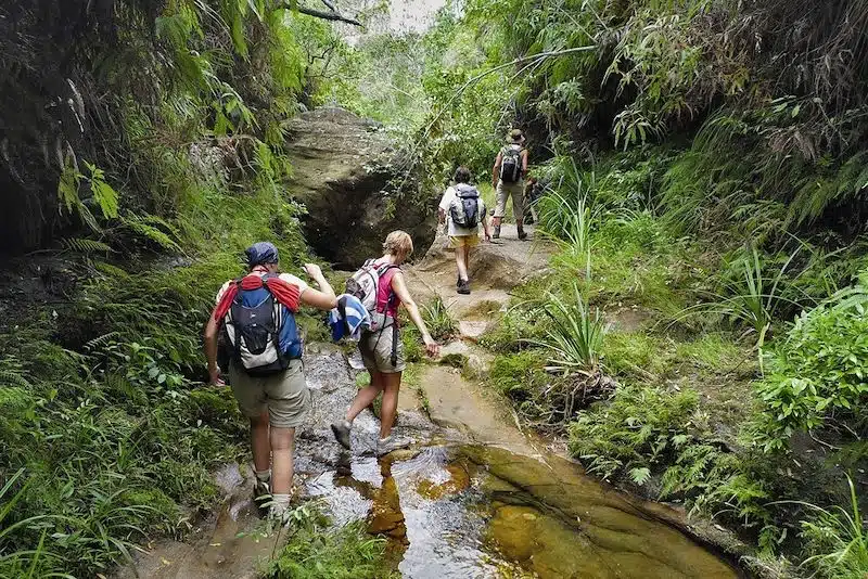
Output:
<svg viewBox="0 0 868 579">
<path fill-rule="evenodd" d="M 344 420 L 331 425 L 334 438 L 347 450 L 350 448 L 349 433 L 353 421 L 380 393 L 383 393 L 383 403 L 380 410 L 376 455 L 388 454 L 412 442 L 410 439 L 392 434 L 398 408 L 401 373 L 406 368 L 404 347 L 398 335 L 398 308 L 401 305 L 421 332 L 427 355 L 437 356 L 439 352 L 439 345 L 434 342 L 425 327 L 425 322 L 407 290 L 407 282 L 400 269 L 401 263 L 412 253 L 413 242 L 410 235 L 404 231 L 393 231 L 383 243 L 383 256 L 368 260 L 347 281 L 347 294 L 358 297 L 371 316 L 371 329 L 363 331 L 359 339 L 359 352 L 365 368 L 371 375 L 371 383 L 356 395 Z"/>
</svg>

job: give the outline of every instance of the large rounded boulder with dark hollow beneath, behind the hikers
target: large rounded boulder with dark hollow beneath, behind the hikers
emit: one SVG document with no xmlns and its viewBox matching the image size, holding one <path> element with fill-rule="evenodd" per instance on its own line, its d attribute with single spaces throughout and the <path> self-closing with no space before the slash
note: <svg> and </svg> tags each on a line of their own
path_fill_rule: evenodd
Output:
<svg viewBox="0 0 868 579">
<path fill-rule="evenodd" d="M 436 195 L 424 195 L 406 155 L 383 128 L 343 108 L 317 108 L 289 123 L 292 196 L 304 203 L 308 243 L 336 267 L 380 256 L 403 229 L 424 255 L 436 229 Z"/>
</svg>

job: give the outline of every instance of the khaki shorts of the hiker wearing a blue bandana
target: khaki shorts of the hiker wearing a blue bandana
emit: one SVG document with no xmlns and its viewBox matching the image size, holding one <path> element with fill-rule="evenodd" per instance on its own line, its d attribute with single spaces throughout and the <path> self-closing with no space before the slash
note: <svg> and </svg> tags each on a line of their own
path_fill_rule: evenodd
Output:
<svg viewBox="0 0 868 579">
<path fill-rule="evenodd" d="M 229 383 L 241 413 L 248 419 L 260 416 L 268 409 L 268 421 L 278 428 L 295 428 L 310 412 L 310 390 L 301 360 L 269 376 L 251 376 L 234 363 L 229 364 Z"/>
</svg>

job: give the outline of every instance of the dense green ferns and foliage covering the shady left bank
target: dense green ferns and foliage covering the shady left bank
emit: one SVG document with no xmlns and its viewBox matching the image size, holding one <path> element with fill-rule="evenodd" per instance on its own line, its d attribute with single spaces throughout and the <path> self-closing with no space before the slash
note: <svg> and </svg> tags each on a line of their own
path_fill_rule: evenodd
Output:
<svg viewBox="0 0 868 579">
<path fill-rule="evenodd" d="M 182 536 L 242 456 L 200 335 L 250 243 L 307 257 L 281 183 L 312 67 L 306 17 L 281 5 L 0 8 L 0 230 L 5 252 L 40 249 L 4 275 L 3 577 L 110 575 Z"/>
</svg>

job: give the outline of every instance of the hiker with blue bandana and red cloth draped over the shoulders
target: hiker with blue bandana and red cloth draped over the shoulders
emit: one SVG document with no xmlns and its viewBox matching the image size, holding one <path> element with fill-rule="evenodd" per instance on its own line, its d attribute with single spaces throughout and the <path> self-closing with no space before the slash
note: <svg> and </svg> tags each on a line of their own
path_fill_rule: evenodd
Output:
<svg viewBox="0 0 868 579">
<path fill-rule="evenodd" d="M 305 266 L 319 286 L 314 290 L 279 272 L 278 249 L 271 243 L 256 243 L 245 254 L 247 275 L 226 282 L 217 294 L 205 326 L 205 356 L 210 383 L 219 383 L 217 338 L 222 333 L 229 384 L 251 421 L 254 499 L 261 502 L 270 494 L 271 513 L 280 516 L 290 502 L 295 428 L 310 411 L 295 313 L 303 305 L 328 311 L 337 301 L 318 266 Z"/>
</svg>

